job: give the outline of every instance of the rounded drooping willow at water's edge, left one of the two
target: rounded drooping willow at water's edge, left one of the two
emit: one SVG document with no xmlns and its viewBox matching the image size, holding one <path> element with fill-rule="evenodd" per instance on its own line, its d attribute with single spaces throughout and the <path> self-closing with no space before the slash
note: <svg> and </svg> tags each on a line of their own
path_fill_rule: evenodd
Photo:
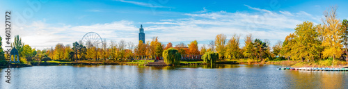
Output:
<svg viewBox="0 0 348 89">
<path fill-rule="evenodd" d="M 164 63 L 168 65 L 180 65 L 181 54 L 177 49 L 169 48 L 163 51 Z"/>
</svg>

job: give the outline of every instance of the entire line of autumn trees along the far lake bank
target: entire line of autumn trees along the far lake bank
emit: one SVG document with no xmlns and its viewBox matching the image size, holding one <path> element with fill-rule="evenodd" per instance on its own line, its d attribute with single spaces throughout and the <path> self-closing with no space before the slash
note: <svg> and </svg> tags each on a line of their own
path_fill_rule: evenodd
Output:
<svg viewBox="0 0 348 89">
<path fill-rule="evenodd" d="M 296 25 L 294 33 L 286 36 L 285 40 L 278 41 L 271 47 L 269 40 L 253 38 L 248 34 L 244 38 L 244 46 L 240 47 L 241 35 L 233 34 L 227 39 L 225 34 L 216 35 L 215 39 L 209 44 L 203 44 L 198 49 L 197 40 L 184 44 L 180 42 L 173 47 L 171 42 L 162 44 L 158 37 L 143 43 L 141 40 L 138 45 L 132 42 L 104 41 L 101 47 L 83 42 L 73 42 L 72 45 L 61 43 L 50 49 L 32 49 L 28 44 L 24 44 L 19 35 L 15 36 L 12 43 L 19 51 L 21 61 L 24 60 L 129 60 L 134 57 L 146 56 L 148 58 L 161 57 L 166 49 L 176 49 L 179 54 L 192 55 L 212 55 L 218 60 L 224 59 L 253 59 L 254 61 L 272 60 L 283 58 L 287 60 L 326 60 L 348 58 L 348 21 L 338 19 L 336 14 L 337 7 L 333 6 L 324 12 L 322 24 L 315 25 L 313 22 L 305 21 Z M 0 37 L 1 40 L 1 37 Z M 1 43 L 1 42 L 0 42 Z M 0 59 L 6 57 L 0 47 Z M 166 51 L 168 52 L 168 51 Z M 207 56 L 203 56 L 207 57 Z"/>
</svg>

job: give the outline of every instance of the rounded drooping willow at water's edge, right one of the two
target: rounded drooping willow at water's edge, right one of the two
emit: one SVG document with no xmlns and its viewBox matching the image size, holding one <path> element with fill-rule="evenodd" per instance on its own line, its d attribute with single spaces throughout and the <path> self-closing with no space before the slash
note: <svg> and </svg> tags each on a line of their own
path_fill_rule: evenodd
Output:
<svg viewBox="0 0 348 89">
<path fill-rule="evenodd" d="M 204 63 L 215 63 L 216 60 L 219 58 L 219 54 L 213 52 L 213 51 L 207 51 L 202 56 Z"/>
</svg>

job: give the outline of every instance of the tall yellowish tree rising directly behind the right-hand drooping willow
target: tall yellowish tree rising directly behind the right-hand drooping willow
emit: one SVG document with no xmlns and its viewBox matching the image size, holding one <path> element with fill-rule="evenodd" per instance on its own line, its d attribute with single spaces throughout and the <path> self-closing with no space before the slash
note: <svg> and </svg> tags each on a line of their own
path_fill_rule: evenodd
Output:
<svg viewBox="0 0 348 89">
<path fill-rule="evenodd" d="M 215 38 L 215 46 L 216 46 L 216 52 L 219 54 L 219 58 L 223 59 L 226 49 L 225 49 L 225 44 L 226 44 L 226 35 L 224 34 L 219 34 L 216 35 Z"/>
</svg>

